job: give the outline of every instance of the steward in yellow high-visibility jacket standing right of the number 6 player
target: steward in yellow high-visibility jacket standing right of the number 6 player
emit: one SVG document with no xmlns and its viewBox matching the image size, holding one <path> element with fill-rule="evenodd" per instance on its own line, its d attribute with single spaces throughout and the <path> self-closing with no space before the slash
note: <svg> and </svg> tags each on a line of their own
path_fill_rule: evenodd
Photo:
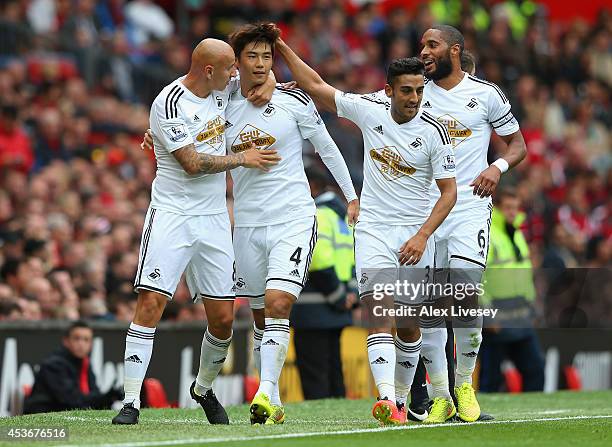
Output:
<svg viewBox="0 0 612 447">
<path fill-rule="evenodd" d="M 481 304 L 497 309 L 485 319 L 480 348 L 480 390 L 498 392 L 503 388 L 501 365 L 511 360 L 522 378 L 523 391 L 544 388 L 544 358 L 533 329 L 536 297 L 529 246 L 520 230 L 525 215 L 519 212 L 520 199 L 511 191 L 498 195 L 491 216 L 491 234 L 484 295 Z"/>
</svg>

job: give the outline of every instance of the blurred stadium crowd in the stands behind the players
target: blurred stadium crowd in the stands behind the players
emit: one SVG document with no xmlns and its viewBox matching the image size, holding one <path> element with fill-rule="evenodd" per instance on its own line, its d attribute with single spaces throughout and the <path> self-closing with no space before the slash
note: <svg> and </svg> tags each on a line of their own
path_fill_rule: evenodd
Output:
<svg viewBox="0 0 612 447">
<path fill-rule="evenodd" d="M 388 62 L 416 54 L 431 24 L 458 25 L 477 75 L 507 93 L 527 142 L 527 160 L 504 182 L 521 196 L 534 266 L 610 265 L 609 11 L 593 24 L 562 24 L 531 3 L 517 9 L 528 2 L 291 3 L 0 3 L 0 319 L 131 321 L 155 175 L 152 154 L 138 146 L 148 107 L 186 72 L 195 43 L 254 20 L 279 23 L 330 84 L 353 92 L 382 88 Z M 280 64 L 276 74 L 288 79 Z M 359 185 L 359 130 L 323 117 Z M 181 283 L 164 318 L 205 316 Z"/>
</svg>

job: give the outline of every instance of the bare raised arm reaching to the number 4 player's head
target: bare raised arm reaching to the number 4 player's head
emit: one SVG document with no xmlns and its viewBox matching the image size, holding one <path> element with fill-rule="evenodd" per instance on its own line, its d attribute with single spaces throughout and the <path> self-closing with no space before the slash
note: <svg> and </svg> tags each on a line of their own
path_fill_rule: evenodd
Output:
<svg viewBox="0 0 612 447">
<path fill-rule="evenodd" d="M 281 38 L 276 41 L 276 50 L 285 59 L 287 67 L 291 70 L 291 74 L 300 88 L 319 101 L 327 110 L 336 113 L 336 89 L 326 83 L 316 71 L 300 59 Z"/>
</svg>

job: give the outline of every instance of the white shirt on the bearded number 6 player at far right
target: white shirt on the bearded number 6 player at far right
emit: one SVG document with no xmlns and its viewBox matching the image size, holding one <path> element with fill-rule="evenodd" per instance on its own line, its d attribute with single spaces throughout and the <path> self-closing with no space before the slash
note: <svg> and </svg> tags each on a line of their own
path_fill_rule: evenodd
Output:
<svg viewBox="0 0 612 447">
<path fill-rule="evenodd" d="M 512 115 L 510 102 L 501 89 L 487 81 L 465 73 L 459 84 L 450 90 L 428 80 L 423 91 L 421 109 L 433 115 L 448 130 L 457 161 L 457 204 L 470 207 L 491 198 L 482 199 L 473 194 L 470 183 L 484 171 L 491 131 L 510 135 L 519 130 Z M 432 185 L 432 200 L 439 191 Z"/>
</svg>

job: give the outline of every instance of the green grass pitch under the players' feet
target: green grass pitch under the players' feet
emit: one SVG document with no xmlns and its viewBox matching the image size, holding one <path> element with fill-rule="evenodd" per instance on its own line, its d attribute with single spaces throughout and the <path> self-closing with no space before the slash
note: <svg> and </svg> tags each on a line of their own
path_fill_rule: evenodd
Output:
<svg viewBox="0 0 612 447">
<path fill-rule="evenodd" d="M 111 425 L 114 411 L 71 411 L 0 419 L 3 433 L 10 427 L 67 427 L 68 440 L 0 441 L 0 445 L 612 446 L 612 391 L 493 394 L 480 395 L 479 400 L 495 415 L 494 422 L 379 427 L 370 415 L 370 400 L 288 404 L 282 426 L 249 425 L 246 405 L 228 409 L 229 426 L 209 425 L 199 409 L 144 409 L 137 426 Z"/>
</svg>

